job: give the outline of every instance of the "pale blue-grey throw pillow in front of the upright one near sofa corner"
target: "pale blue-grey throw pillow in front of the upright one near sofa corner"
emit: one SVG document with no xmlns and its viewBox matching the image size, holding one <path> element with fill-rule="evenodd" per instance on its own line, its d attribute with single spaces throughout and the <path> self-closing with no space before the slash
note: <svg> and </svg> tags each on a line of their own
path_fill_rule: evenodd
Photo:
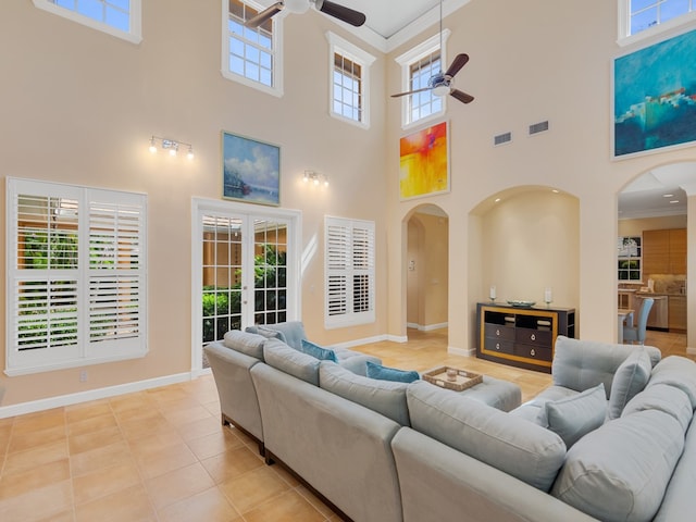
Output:
<svg viewBox="0 0 696 522">
<path fill-rule="evenodd" d="M 607 417 L 607 393 L 604 383 L 567 399 L 548 401 L 539 409 L 538 423 L 557 433 L 570 447 Z"/>
</svg>

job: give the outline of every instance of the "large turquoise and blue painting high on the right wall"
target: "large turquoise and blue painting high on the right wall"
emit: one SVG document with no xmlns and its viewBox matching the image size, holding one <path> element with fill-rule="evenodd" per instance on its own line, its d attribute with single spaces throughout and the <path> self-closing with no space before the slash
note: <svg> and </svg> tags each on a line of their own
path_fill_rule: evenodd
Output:
<svg viewBox="0 0 696 522">
<path fill-rule="evenodd" d="M 614 60 L 614 157 L 696 141 L 696 30 Z"/>
</svg>

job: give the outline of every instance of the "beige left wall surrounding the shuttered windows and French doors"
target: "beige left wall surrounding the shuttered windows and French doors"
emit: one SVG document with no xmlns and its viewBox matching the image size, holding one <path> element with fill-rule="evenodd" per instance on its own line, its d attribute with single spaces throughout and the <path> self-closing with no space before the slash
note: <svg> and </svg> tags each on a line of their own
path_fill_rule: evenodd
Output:
<svg viewBox="0 0 696 522">
<path fill-rule="evenodd" d="M 386 263 L 377 268 L 377 321 L 323 328 L 323 216 L 377 223 L 386 258 L 384 58 L 372 65 L 369 130 L 328 115 L 331 30 L 315 12 L 285 22 L 282 98 L 220 73 L 221 2 L 142 2 L 144 41 L 132 45 L 34 8 L 3 4 L 0 17 L 0 175 L 115 188 L 148 195 L 149 353 L 144 359 L 7 377 L 3 406 L 182 374 L 191 366 L 191 198 L 221 199 L 221 130 L 281 146 L 281 203 L 302 211 L 302 248 L 315 244 L 301 284 L 307 330 L 318 341 L 386 332 Z M 151 135 L 194 145 L 196 159 L 151 154 Z M 307 187 L 304 169 L 330 176 Z M 4 182 L 4 179 L 3 179 Z M 1 200 L 4 207 L 4 183 Z M 4 211 L 0 214 L 4 269 Z M 4 277 L 0 283 L 4 295 Z M 4 315 L 4 299 L 0 302 Z M 4 360 L 5 336 L 0 337 Z"/>
</svg>

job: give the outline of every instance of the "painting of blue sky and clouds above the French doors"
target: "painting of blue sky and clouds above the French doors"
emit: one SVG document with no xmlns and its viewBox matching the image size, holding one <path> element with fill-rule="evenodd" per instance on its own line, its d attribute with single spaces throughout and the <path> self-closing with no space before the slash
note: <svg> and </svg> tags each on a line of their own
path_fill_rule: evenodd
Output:
<svg viewBox="0 0 696 522">
<path fill-rule="evenodd" d="M 249 203 L 281 204 L 281 148 L 222 133 L 222 196 Z"/>
</svg>

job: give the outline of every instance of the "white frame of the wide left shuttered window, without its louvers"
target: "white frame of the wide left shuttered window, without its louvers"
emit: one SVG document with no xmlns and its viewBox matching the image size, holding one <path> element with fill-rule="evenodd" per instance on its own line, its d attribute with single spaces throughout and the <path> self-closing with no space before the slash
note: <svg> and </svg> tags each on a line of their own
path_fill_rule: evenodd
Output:
<svg viewBox="0 0 696 522">
<path fill-rule="evenodd" d="M 5 220 L 8 234 L 5 236 L 5 288 L 13 288 L 15 282 L 24 279 L 23 272 L 16 268 L 17 252 L 17 215 L 14 213 L 13 198 L 23 191 L 36 195 L 47 195 L 51 197 L 69 197 L 78 199 L 80 204 L 80 213 L 78 215 L 78 241 L 80 249 L 78 251 L 79 261 L 77 269 L 71 269 L 77 281 L 78 291 L 78 314 L 77 314 L 77 332 L 78 341 L 70 349 L 58 348 L 55 353 L 42 350 L 29 350 L 29 352 L 20 353 L 15 350 L 14 331 L 10 325 L 10 321 L 14 320 L 15 304 L 14 293 L 7 291 L 5 295 L 5 370 L 9 376 L 25 375 L 38 372 L 48 372 L 53 370 L 62 370 L 66 368 L 76 368 L 90 364 L 100 364 L 104 362 L 122 361 L 126 359 L 135 359 L 145 357 L 148 352 L 148 307 L 147 307 L 147 195 L 138 192 L 125 192 L 119 190 L 104 190 L 75 185 L 65 185 L 58 183 L 49 183 L 34 179 L 7 178 L 5 186 Z M 94 270 L 89 265 L 89 219 L 90 214 L 86 210 L 91 201 L 127 201 L 129 204 L 139 206 L 140 226 L 138 228 L 139 256 L 141 261 L 138 269 L 133 271 L 133 275 L 138 277 L 139 293 L 138 302 L 138 335 L 116 340 L 100 340 L 90 343 L 89 339 L 89 307 L 86 304 L 90 297 L 89 285 Z M 53 357 L 51 357 L 53 356 Z"/>
</svg>

